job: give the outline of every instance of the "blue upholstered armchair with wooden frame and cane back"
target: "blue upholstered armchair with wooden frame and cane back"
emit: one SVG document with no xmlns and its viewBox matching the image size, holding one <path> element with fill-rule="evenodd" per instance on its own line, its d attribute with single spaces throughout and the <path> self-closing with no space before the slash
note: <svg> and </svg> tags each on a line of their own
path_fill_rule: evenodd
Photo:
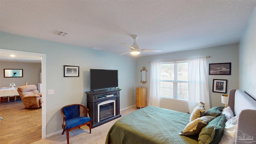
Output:
<svg viewBox="0 0 256 144">
<path fill-rule="evenodd" d="M 67 141 L 69 144 L 69 131 L 81 126 L 87 125 L 92 130 L 92 119 L 89 117 L 88 108 L 82 104 L 70 104 L 61 108 L 60 112 L 63 116 L 62 129 L 67 134 Z"/>
</svg>

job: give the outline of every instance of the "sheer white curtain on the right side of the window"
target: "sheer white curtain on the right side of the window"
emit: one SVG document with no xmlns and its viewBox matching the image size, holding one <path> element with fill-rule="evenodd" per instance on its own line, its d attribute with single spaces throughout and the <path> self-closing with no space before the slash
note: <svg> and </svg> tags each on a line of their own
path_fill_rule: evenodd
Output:
<svg viewBox="0 0 256 144">
<path fill-rule="evenodd" d="M 210 109 L 207 76 L 205 57 L 188 59 L 188 105 L 190 113 L 200 102 L 205 103 L 205 110 Z"/>
</svg>

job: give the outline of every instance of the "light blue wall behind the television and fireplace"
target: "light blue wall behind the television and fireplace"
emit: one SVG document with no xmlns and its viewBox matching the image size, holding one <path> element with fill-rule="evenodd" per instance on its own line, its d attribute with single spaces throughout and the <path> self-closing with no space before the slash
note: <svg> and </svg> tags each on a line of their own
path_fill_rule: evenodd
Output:
<svg viewBox="0 0 256 144">
<path fill-rule="evenodd" d="M 60 109 L 68 104 L 87 105 L 89 69 L 118 70 L 120 109 L 134 105 L 136 59 L 129 56 L 60 44 L 0 32 L 0 48 L 46 54 L 46 135 L 62 129 Z M 80 77 L 63 77 L 63 66 L 80 66 Z"/>
</svg>

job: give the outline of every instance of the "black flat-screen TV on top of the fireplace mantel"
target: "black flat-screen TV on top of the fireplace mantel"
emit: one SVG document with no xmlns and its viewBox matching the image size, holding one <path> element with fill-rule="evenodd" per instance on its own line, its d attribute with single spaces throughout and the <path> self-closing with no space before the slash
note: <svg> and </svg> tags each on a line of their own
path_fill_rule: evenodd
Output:
<svg viewBox="0 0 256 144">
<path fill-rule="evenodd" d="M 90 69 L 90 90 L 118 87 L 118 70 Z"/>
</svg>

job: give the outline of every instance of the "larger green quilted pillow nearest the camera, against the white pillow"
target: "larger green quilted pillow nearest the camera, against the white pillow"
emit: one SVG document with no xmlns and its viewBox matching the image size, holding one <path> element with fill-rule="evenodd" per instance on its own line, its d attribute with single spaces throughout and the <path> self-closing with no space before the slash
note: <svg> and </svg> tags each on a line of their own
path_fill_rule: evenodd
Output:
<svg viewBox="0 0 256 144">
<path fill-rule="evenodd" d="M 202 128 L 199 136 L 199 144 L 217 144 L 222 135 L 225 127 L 225 115 L 218 116 Z"/>
</svg>

